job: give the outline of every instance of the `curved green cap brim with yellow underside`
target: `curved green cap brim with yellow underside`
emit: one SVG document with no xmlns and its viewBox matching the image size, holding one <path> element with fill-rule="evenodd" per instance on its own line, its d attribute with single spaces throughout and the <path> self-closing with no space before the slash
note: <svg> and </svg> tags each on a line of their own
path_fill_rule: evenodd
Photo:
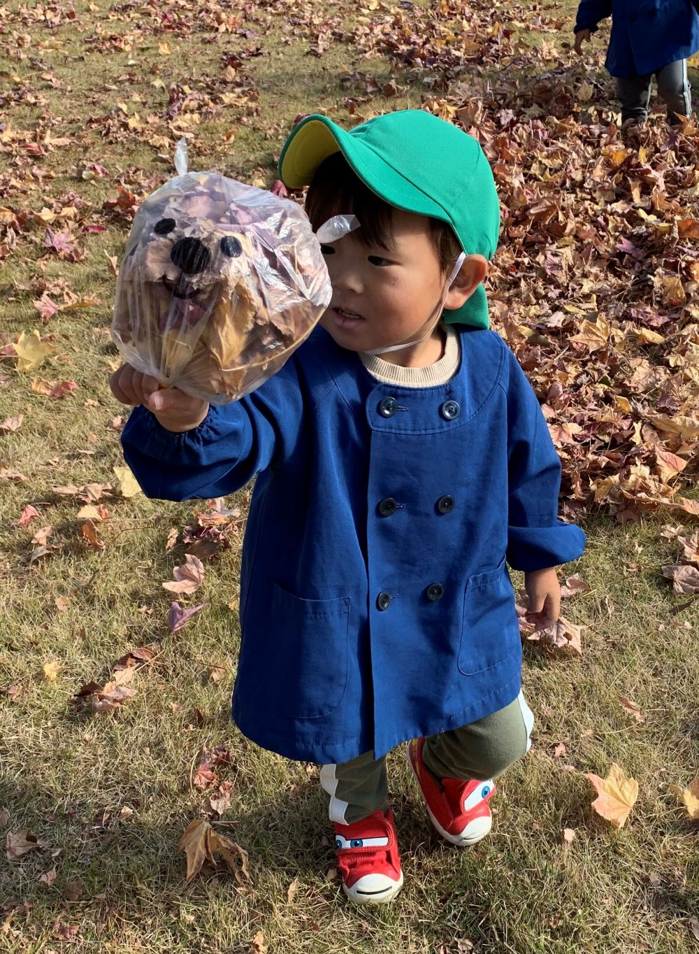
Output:
<svg viewBox="0 0 699 954">
<path fill-rule="evenodd" d="M 287 139 L 279 156 L 279 177 L 290 189 L 310 185 L 323 159 L 341 153 L 361 181 L 389 205 L 451 224 L 441 205 L 397 172 L 359 136 L 340 129 L 327 116 L 306 116 Z"/>
</svg>

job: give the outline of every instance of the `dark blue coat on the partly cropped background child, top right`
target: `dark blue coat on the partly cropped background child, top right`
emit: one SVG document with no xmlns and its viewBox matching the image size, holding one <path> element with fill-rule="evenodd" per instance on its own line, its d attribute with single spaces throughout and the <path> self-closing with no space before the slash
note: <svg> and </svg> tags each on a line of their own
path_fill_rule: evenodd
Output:
<svg viewBox="0 0 699 954">
<path fill-rule="evenodd" d="M 699 50 L 699 0 L 581 0 L 575 32 L 611 17 L 606 69 L 645 76 Z"/>
</svg>

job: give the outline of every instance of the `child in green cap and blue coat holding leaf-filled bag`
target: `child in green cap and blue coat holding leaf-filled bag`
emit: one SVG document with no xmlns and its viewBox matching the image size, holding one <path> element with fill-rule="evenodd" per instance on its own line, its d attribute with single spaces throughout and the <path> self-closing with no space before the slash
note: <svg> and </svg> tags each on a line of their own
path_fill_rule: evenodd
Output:
<svg viewBox="0 0 699 954">
<path fill-rule="evenodd" d="M 277 375 L 211 406 L 123 365 L 124 454 L 151 497 L 232 493 L 257 475 L 243 547 L 233 716 L 321 764 L 343 889 L 402 884 L 386 753 L 407 755 L 452 844 L 490 830 L 492 777 L 529 747 L 506 562 L 558 617 L 553 569 L 583 532 L 557 519 L 560 462 L 514 355 L 485 330 L 500 214 L 476 139 L 421 111 L 346 132 L 298 124 L 287 186 L 310 185 L 333 299 Z M 442 316 L 443 309 L 443 316 Z M 438 323 L 443 317 L 445 323 Z"/>
</svg>

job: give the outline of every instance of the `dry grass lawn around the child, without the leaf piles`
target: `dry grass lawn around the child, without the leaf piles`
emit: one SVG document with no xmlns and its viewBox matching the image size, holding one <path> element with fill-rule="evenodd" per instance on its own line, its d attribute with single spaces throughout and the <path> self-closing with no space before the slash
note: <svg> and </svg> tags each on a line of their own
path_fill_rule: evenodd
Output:
<svg viewBox="0 0 699 954">
<path fill-rule="evenodd" d="M 545 6 L 569 17 L 574 5 Z M 190 600 L 203 594 L 206 608 L 170 633 L 160 583 L 182 562 L 183 548 L 166 550 L 166 540 L 202 505 L 105 498 L 112 517 L 100 526 L 105 547 L 97 551 L 79 534 L 83 501 L 52 489 L 109 484 L 121 463 L 113 418 L 123 408 L 106 384 L 117 356 L 105 253 L 121 254 L 129 221 L 105 217 L 100 207 L 117 184 L 148 191 L 169 175 L 167 156 L 187 129 L 164 116 L 173 84 L 194 94 L 192 110 L 180 116 L 201 116 L 192 125 L 193 164 L 271 184 L 296 114 L 319 108 L 352 121 L 347 108 L 357 106 L 342 102 L 366 95 L 367 81 L 339 77 L 362 73 L 382 86 L 392 75 L 388 60 L 364 59 L 332 33 L 321 56 L 309 54 L 323 10 L 250 5 L 244 26 L 253 34 L 242 36 L 208 28 L 212 9 L 180 0 L 165 20 L 148 4 L 111 8 L 97 0 L 79 5 L 74 20 L 51 6 L 12 3 L 0 12 L 6 51 L 24 53 L 2 73 L 10 101 L 0 141 L 12 148 L 0 155 L 0 174 L 6 185 L 22 183 L 10 183 L 7 203 L 58 213 L 81 200 L 80 217 L 106 226 L 82 233 L 86 257 L 73 263 L 42 258 L 45 222 L 37 219 L 0 263 L 0 347 L 39 327 L 53 336 L 53 352 L 36 373 L 78 385 L 52 401 L 31 389 L 31 374 L 0 363 L 0 421 L 24 415 L 19 429 L 0 433 L 0 467 L 26 477 L 0 481 L 0 809 L 10 816 L 0 814 L 0 824 L 45 842 L 0 864 L 0 947 L 10 954 L 689 954 L 699 930 L 692 934 L 697 830 L 668 788 L 688 784 L 699 764 L 697 629 L 695 607 L 681 609 L 660 576 L 674 548 L 657 522 L 588 520 L 588 550 L 566 568 L 590 586 L 566 610 L 586 626 L 585 653 L 552 659 L 525 648 L 534 746 L 502 780 L 492 838 L 464 853 L 442 845 L 401 753 L 391 757 L 405 888 L 390 908 L 366 911 L 339 892 L 316 770 L 257 749 L 229 720 L 241 526 L 228 529 L 232 546 L 207 563 L 205 587 Z M 325 12 L 341 31 L 350 16 L 370 21 L 378 9 L 371 0 L 359 14 L 340 4 Z M 256 48 L 223 73 L 226 57 Z M 398 97 L 372 94 L 366 108 L 418 106 L 423 92 L 416 82 Z M 188 95 L 177 93 L 185 104 Z M 8 130 L 43 142 L 45 155 L 14 149 Z M 47 131 L 71 141 L 51 149 Z M 108 175 L 82 178 L 91 163 Z M 64 228 L 60 221 L 54 230 Z M 47 287 L 61 301 L 61 281 L 98 303 L 44 326 L 32 301 Z M 17 527 L 29 503 L 40 516 Z M 247 491 L 236 504 L 244 516 Z M 32 533 L 47 525 L 59 549 L 30 562 Z M 114 659 L 142 645 L 156 653 L 136 674 L 123 711 L 90 716 L 70 705 L 80 686 L 104 682 Z M 59 666 L 53 681 L 43 672 L 51 662 Z M 645 722 L 627 716 L 619 695 L 638 704 Z M 233 785 L 218 830 L 249 852 L 251 881 L 236 886 L 209 875 L 188 885 L 175 846 L 207 803 L 193 784 L 199 751 L 220 743 L 231 754 L 221 778 Z M 565 754 L 557 756 L 559 743 Z M 583 775 L 605 776 L 612 761 L 641 791 L 622 830 L 590 812 Z M 576 830 L 570 844 L 564 828 Z"/>
</svg>

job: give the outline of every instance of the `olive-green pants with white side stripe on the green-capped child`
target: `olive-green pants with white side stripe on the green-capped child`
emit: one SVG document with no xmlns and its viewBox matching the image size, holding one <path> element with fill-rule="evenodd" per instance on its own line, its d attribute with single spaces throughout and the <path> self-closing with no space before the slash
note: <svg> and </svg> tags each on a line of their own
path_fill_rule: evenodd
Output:
<svg viewBox="0 0 699 954">
<path fill-rule="evenodd" d="M 425 739 L 422 756 L 438 778 L 481 781 L 501 775 L 529 750 L 534 716 L 520 695 L 504 709 L 461 729 Z M 388 807 L 386 757 L 365 752 L 341 765 L 323 765 L 320 785 L 331 821 L 351 825 Z"/>
</svg>

